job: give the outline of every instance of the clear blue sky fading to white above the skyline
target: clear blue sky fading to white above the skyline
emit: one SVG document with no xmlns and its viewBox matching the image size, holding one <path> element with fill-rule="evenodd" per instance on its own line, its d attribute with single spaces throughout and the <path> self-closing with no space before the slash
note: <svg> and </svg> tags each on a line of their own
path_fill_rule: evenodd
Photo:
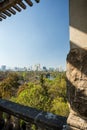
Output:
<svg viewBox="0 0 87 130">
<path fill-rule="evenodd" d="M 33 1 L 33 0 L 32 0 Z M 68 0 L 40 0 L 0 22 L 0 66 L 66 66 Z"/>
</svg>

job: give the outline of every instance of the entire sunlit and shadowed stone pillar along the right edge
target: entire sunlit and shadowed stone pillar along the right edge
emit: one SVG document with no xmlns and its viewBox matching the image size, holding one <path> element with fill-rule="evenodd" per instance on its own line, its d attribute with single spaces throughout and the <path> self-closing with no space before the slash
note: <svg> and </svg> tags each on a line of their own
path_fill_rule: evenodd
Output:
<svg viewBox="0 0 87 130">
<path fill-rule="evenodd" d="M 69 0 L 70 52 L 67 56 L 67 96 L 70 130 L 87 130 L 87 0 Z"/>
</svg>

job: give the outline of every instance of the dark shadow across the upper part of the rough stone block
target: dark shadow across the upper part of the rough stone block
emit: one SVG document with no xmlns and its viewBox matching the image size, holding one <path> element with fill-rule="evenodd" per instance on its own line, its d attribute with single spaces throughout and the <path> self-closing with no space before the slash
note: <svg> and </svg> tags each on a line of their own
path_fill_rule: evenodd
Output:
<svg viewBox="0 0 87 130">
<path fill-rule="evenodd" d="M 67 62 L 74 66 L 81 75 L 87 76 L 87 48 L 80 48 L 75 43 L 71 42 L 73 49 L 67 55 Z"/>
</svg>

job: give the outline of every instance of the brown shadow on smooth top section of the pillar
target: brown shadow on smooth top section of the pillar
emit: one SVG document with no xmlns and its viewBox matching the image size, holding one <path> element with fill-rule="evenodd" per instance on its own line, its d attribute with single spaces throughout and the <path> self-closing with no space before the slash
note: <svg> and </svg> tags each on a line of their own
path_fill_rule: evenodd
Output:
<svg viewBox="0 0 87 130">
<path fill-rule="evenodd" d="M 76 0 L 69 1 L 72 5 L 70 6 L 70 26 L 87 33 L 87 0 L 77 0 L 77 4 Z"/>
</svg>

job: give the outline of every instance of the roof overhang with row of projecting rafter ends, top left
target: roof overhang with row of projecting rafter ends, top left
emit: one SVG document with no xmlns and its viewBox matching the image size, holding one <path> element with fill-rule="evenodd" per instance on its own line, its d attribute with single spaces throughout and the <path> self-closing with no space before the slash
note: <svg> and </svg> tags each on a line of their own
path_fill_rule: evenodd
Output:
<svg viewBox="0 0 87 130">
<path fill-rule="evenodd" d="M 37 3 L 40 0 L 35 0 Z M 33 2 L 31 0 L 0 0 L 0 21 L 10 17 L 16 12 L 21 12 L 22 9 L 26 9 L 26 3 L 31 7 Z"/>
</svg>

